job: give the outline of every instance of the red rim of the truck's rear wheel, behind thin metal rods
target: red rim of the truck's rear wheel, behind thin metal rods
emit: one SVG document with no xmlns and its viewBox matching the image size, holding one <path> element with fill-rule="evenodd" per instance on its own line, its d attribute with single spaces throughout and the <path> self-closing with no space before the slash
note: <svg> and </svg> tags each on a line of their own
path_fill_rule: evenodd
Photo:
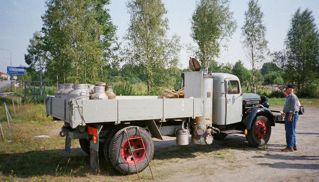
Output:
<svg viewBox="0 0 319 182">
<path fill-rule="evenodd" d="M 131 147 L 129 147 L 129 140 Z M 134 160 L 136 164 L 139 164 L 145 157 L 145 151 L 147 151 L 146 144 L 137 136 L 130 137 L 129 140 L 126 140 L 121 147 L 122 159 L 128 165 L 134 165 Z M 145 150 L 143 149 L 143 144 Z"/>
</svg>

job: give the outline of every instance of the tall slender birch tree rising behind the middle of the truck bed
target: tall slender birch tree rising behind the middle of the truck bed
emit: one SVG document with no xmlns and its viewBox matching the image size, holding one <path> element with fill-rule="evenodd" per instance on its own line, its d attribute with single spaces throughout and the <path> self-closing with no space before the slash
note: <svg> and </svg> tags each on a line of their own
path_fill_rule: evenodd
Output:
<svg viewBox="0 0 319 182">
<path fill-rule="evenodd" d="M 161 0 L 131 0 L 127 3 L 131 15 L 130 26 L 124 40 L 124 59 L 147 82 L 148 95 L 151 88 L 171 87 L 173 74 L 179 66 L 180 38 L 167 38 L 168 19 Z M 155 87 L 151 87 L 154 85 Z M 156 94 L 156 93 L 154 93 Z"/>
</svg>

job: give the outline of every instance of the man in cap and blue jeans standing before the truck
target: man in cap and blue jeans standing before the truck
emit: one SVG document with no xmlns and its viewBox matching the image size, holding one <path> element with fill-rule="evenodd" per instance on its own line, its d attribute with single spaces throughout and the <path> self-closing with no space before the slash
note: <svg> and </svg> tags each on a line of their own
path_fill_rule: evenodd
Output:
<svg viewBox="0 0 319 182">
<path fill-rule="evenodd" d="M 296 125 L 299 118 L 299 100 L 293 92 L 293 85 L 287 85 L 285 87 L 284 93 L 288 96 L 286 98 L 285 105 L 283 108 L 283 116 L 285 117 L 287 147 L 281 150 L 282 152 L 297 151 Z"/>
</svg>

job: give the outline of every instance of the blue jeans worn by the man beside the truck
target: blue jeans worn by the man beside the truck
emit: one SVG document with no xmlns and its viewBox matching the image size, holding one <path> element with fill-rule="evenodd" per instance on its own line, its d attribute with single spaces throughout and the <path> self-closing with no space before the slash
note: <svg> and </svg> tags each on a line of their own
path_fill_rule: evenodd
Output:
<svg viewBox="0 0 319 182">
<path fill-rule="evenodd" d="M 298 112 L 295 112 L 291 118 L 291 122 L 288 122 L 288 115 L 285 117 L 285 130 L 286 130 L 286 143 L 287 148 L 292 149 L 297 147 L 296 142 L 296 125 L 299 118 Z"/>
</svg>

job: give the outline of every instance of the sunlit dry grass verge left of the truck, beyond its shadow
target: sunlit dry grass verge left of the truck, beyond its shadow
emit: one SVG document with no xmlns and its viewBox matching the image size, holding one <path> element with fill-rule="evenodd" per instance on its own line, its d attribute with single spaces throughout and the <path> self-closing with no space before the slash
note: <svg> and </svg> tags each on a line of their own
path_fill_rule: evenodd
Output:
<svg viewBox="0 0 319 182">
<path fill-rule="evenodd" d="M 0 119 L 4 134 L 4 140 L 0 136 L 0 154 L 36 151 L 40 150 L 41 147 L 50 148 L 54 144 L 54 140 L 49 140 L 51 143 L 48 143 L 46 140 L 37 139 L 34 136 L 58 134 L 56 131 L 47 133 L 48 129 L 54 129 L 54 125 L 57 125 L 58 122 L 52 121 L 52 117 L 45 116 L 44 105 L 33 103 L 17 105 L 17 98 L 22 95 L 21 91 L 23 91 L 22 88 L 17 88 L 17 92 L 0 97 Z M 12 100 L 16 114 L 14 114 Z M 13 120 L 10 121 L 10 128 L 7 123 L 4 102 Z"/>
</svg>

